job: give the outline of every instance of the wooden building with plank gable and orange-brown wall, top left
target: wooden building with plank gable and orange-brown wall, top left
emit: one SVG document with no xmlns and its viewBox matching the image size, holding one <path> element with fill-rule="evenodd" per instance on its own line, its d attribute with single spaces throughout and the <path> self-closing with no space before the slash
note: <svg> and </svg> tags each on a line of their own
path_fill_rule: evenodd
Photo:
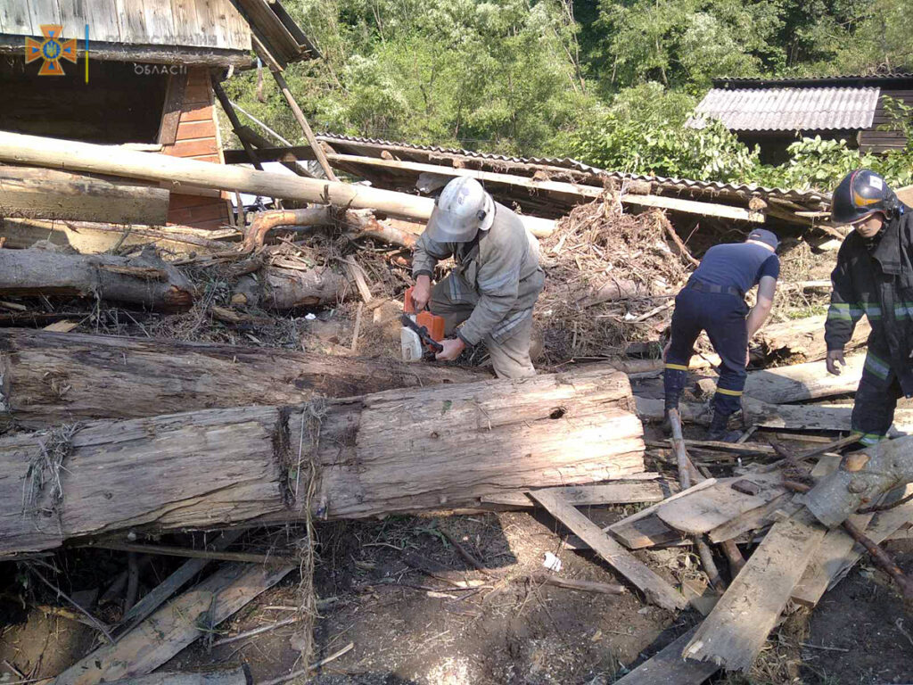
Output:
<svg viewBox="0 0 913 685">
<path fill-rule="evenodd" d="M 46 60 L 35 46 L 50 30 L 75 54 L 58 60 L 57 75 L 39 76 Z M 282 5 L 267 0 L 5 2 L 0 129 L 224 163 L 214 79 L 253 67 L 255 49 L 278 68 L 316 55 Z M 216 191 L 182 188 L 168 198 L 171 224 L 215 228 L 230 216 Z"/>
</svg>

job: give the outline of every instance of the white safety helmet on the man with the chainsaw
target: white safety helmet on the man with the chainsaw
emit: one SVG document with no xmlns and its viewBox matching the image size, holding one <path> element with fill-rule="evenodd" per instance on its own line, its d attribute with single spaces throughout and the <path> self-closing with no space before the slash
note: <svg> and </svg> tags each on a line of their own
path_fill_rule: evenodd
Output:
<svg viewBox="0 0 913 685">
<path fill-rule="evenodd" d="M 457 176 L 444 186 L 425 231 L 439 243 L 467 243 L 495 220 L 495 201 L 475 178 Z"/>
</svg>

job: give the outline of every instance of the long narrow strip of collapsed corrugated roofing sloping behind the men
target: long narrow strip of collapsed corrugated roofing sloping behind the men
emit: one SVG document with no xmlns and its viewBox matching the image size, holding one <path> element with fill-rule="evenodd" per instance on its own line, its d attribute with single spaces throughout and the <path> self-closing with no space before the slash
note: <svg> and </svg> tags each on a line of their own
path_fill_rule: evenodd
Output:
<svg viewBox="0 0 913 685">
<path fill-rule="evenodd" d="M 583 174 L 592 174 L 603 179 L 612 179 L 619 183 L 630 181 L 645 181 L 655 184 L 658 188 L 667 190 L 672 193 L 694 193 L 707 195 L 741 195 L 757 197 L 776 197 L 782 200 L 791 200 L 801 204 L 818 204 L 829 203 L 830 194 L 819 193 L 815 190 L 794 190 L 789 188 L 770 188 L 756 184 L 732 184 L 722 183 L 719 181 L 695 181 L 686 178 L 670 178 L 666 176 L 654 176 L 649 174 L 627 174 L 624 172 L 610 172 L 600 169 L 589 164 L 584 164 L 570 157 L 511 157 L 504 154 L 479 153 L 474 150 L 462 150 L 458 148 L 439 147 L 437 145 L 416 145 L 411 142 L 391 142 L 379 138 L 361 138 L 351 135 L 342 135 L 340 133 L 325 132 L 319 134 L 320 141 L 327 142 L 331 145 L 344 144 L 346 142 L 355 145 L 370 145 L 379 148 L 402 148 L 414 150 L 417 153 L 438 153 L 449 154 L 460 157 L 468 157 L 479 160 L 488 160 L 492 163 L 509 162 L 523 163 L 540 166 L 561 167 Z"/>
</svg>

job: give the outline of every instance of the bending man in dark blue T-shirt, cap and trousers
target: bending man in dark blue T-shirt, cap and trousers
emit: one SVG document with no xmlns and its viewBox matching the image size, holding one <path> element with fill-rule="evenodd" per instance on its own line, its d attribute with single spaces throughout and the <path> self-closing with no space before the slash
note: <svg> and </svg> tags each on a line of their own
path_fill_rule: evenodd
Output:
<svg viewBox="0 0 913 685">
<path fill-rule="evenodd" d="M 708 249 L 698 269 L 676 297 L 672 314 L 672 337 L 666 345 L 666 413 L 678 408 L 687 384 L 687 365 L 694 354 L 694 342 L 701 331 L 713 344 L 722 364 L 717 393 L 713 397 L 713 418 L 709 440 L 738 439 L 730 433 L 729 416 L 741 407 L 748 365 L 748 342 L 771 313 L 780 277 L 779 241 L 771 231 L 751 231 L 743 243 L 716 245 Z M 758 286 L 755 306 L 749 311 L 745 293 Z"/>
</svg>

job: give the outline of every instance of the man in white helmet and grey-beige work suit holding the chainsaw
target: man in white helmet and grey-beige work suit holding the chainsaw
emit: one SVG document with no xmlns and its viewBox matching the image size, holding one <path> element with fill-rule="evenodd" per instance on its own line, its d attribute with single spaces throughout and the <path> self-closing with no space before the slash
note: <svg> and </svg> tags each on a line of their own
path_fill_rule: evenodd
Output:
<svg viewBox="0 0 913 685">
<path fill-rule="evenodd" d="M 441 259 L 456 267 L 434 288 Z M 485 342 L 500 378 L 535 375 L 530 359 L 532 307 L 545 274 L 539 244 L 519 216 L 499 205 L 474 178 L 444 186 L 425 233 L 415 243 L 412 273 L 415 310 L 428 307 L 446 321 L 440 361 Z"/>
</svg>

